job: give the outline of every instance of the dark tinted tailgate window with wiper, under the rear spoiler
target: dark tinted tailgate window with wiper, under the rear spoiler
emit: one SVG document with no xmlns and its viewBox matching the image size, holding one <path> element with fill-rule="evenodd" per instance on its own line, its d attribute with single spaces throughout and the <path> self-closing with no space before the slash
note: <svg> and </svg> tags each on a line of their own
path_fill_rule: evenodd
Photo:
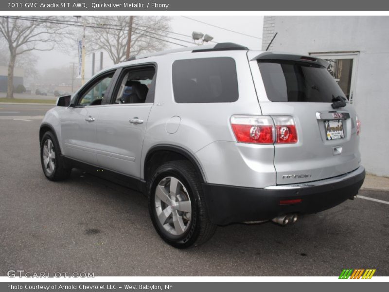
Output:
<svg viewBox="0 0 389 292">
<path fill-rule="evenodd" d="M 258 61 L 267 98 L 279 102 L 332 102 L 343 91 L 322 66 L 302 62 Z"/>
</svg>

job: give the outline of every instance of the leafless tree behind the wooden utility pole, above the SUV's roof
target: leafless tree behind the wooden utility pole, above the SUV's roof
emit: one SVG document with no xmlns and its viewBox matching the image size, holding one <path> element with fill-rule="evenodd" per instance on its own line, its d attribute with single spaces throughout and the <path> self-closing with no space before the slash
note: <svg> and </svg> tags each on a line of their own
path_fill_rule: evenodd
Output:
<svg viewBox="0 0 389 292">
<path fill-rule="evenodd" d="M 94 26 L 88 28 L 88 51 L 104 50 L 118 64 L 124 61 L 127 49 L 129 16 L 89 18 Z M 131 55 L 156 52 L 166 47 L 164 30 L 169 29 L 166 16 L 134 16 L 131 37 Z M 99 28 L 100 24 L 103 28 Z"/>
</svg>

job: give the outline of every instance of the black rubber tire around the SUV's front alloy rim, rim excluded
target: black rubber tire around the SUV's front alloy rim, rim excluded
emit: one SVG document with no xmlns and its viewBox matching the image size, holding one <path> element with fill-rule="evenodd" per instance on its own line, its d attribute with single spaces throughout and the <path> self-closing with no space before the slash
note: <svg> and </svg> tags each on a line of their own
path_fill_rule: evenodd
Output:
<svg viewBox="0 0 389 292">
<path fill-rule="evenodd" d="M 46 141 L 50 140 L 52 142 L 53 151 L 55 153 L 55 158 L 52 159 L 54 163 L 53 170 L 51 171 L 44 162 L 44 147 Z M 64 159 L 61 155 L 61 148 L 59 147 L 57 138 L 52 131 L 47 131 L 43 134 L 42 141 L 40 142 L 40 163 L 42 165 L 42 170 L 46 178 L 50 181 L 63 181 L 69 178 L 71 173 L 71 167 L 65 164 Z"/>
</svg>

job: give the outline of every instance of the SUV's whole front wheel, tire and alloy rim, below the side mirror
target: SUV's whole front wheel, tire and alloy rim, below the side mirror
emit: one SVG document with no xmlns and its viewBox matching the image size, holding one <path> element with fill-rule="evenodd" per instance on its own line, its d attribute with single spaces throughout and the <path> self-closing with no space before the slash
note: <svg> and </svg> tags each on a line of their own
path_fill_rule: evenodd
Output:
<svg viewBox="0 0 389 292">
<path fill-rule="evenodd" d="M 40 162 L 43 173 L 50 181 L 62 181 L 69 178 L 71 167 L 65 164 L 58 141 L 51 131 L 47 131 L 42 137 Z"/>
</svg>

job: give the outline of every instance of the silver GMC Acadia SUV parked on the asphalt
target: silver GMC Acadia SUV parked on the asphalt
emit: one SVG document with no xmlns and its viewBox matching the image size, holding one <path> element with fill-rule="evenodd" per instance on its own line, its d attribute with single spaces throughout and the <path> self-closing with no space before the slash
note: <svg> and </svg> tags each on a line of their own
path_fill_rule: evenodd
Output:
<svg viewBox="0 0 389 292">
<path fill-rule="evenodd" d="M 47 112 L 43 172 L 142 191 L 177 248 L 217 225 L 295 222 L 353 199 L 365 178 L 360 122 L 326 67 L 233 43 L 132 57 Z"/>
</svg>

